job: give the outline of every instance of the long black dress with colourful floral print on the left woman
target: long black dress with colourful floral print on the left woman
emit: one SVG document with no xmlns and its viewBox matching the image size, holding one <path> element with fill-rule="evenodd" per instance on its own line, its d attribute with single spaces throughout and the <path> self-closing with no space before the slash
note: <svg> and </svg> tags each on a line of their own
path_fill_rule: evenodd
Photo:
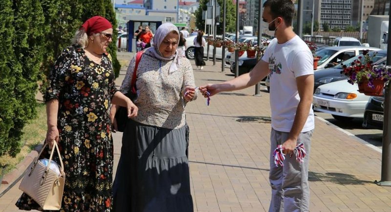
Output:
<svg viewBox="0 0 391 212">
<path fill-rule="evenodd" d="M 104 54 L 101 64 L 96 64 L 83 48 L 69 46 L 57 59 L 49 77 L 46 102 L 59 101 L 57 127 L 66 174 L 61 211 L 111 210 L 113 142 L 109 106 L 116 91 L 110 55 Z M 42 211 L 25 193 L 16 205 L 22 210 Z"/>
</svg>

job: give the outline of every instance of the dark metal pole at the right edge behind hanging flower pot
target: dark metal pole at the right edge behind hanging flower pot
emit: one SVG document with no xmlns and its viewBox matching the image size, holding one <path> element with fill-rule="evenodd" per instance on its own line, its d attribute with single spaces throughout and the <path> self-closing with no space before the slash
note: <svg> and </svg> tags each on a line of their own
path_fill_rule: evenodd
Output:
<svg viewBox="0 0 391 212">
<path fill-rule="evenodd" d="M 391 2 L 391 0 L 390 0 Z M 391 21 L 391 13 L 389 15 Z M 388 26 L 388 31 L 391 30 L 391 25 Z M 388 39 L 391 41 L 391 34 L 388 34 Z M 391 65 L 391 42 L 387 43 L 387 66 Z M 391 134 L 389 132 L 389 122 L 391 121 L 390 101 L 391 88 L 390 84 L 385 87 L 386 93 L 384 100 L 384 121 L 383 121 L 383 148 L 382 148 L 382 177 L 380 182 L 375 183 L 379 186 L 391 186 Z"/>
</svg>

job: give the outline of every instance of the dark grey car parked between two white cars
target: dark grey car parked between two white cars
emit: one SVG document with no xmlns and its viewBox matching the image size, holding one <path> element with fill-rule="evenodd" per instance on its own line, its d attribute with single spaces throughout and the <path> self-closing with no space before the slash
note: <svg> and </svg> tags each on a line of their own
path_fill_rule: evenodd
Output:
<svg viewBox="0 0 391 212">
<path fill-rule="evenodd" d="M 369 55 L 372 56 L 374 52 L 375 51 L 369 52 Z M 314 80 L 315 80 L 314 92 L 319 85 L 348 79 L 347 76 L 341 74 L 341 71 L 343 70 L 342 65 L 343 64 L 349 65 L 353 61 L 357 60 L 359 57 L 363 57 L 363 55 L 357 55 L 330 68 L 314 71 Z M 374 65 L 377 65 L 386 62 L 386 59 L 387 59 L 387 51 L 380 50 L 377 51 L 376 56 L 373 58 L 372 61 Z"/>
</svg>

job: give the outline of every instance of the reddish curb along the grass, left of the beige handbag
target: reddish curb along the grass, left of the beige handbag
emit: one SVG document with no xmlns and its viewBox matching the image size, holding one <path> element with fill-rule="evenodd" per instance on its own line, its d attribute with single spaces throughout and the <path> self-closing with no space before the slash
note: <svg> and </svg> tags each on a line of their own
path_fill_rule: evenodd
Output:
<svg viewBox="0 0 391 212">
<path fill-rule="evenodd" d="M 34 159 L 38 156 L 42 144 L 37 145 L 34 149 L 24 157 L 24 159 L 16 165 L 16 168 L 9 173 L 7 173 L 1 181 L 1 187 L 5 186 L 6 188 L 1 188 L 0 197 L 4 195 L 8 190 L 10 190 L 23 176 L 24 171 L 30 166 Z"/>
</svg>

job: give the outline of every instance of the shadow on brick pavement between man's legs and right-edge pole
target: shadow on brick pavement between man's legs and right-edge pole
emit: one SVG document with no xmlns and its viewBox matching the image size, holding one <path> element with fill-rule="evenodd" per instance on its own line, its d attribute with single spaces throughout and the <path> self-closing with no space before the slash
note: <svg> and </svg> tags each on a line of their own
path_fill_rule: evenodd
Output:
<svg viewBox="0 0 391 212">
<path fill-rule="evenodd" d="M 327 173 L 317 173 L 317 172 L 308 172 L 308 181 L 310 182 L 332 182 L 339 185 L 364 185 L 372 184 L 373 182 L 367 180 L 360 180 L 356 176 L 345 173 L 336 173 L 336 172 L 327 172 Z"/>
</svg>

